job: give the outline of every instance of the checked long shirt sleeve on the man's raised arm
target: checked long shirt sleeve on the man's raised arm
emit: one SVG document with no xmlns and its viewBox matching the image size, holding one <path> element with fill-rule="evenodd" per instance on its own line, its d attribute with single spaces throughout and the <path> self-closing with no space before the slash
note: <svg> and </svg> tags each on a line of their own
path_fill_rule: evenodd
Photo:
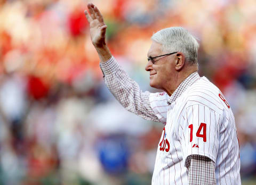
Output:
<svg viewBox="0 0 256 185">
<path fill-rule="evenodd" d="M 100 63 L 106 86 L 118 102 L 127 110 L 143 119 L 161 122 L 151 108 L 149 91 L 142 91 L 112 56 Z"/>
</svg>

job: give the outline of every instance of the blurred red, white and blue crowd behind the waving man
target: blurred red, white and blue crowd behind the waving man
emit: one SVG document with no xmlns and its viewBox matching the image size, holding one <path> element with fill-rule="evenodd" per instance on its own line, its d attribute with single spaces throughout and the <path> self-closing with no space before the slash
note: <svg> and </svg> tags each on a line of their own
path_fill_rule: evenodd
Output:
<svg viewBox="0 0 256 185">
<path fill-rule="evenodd" d="M 111 53 L 137 81 L 151 35 L 182 26 L 199 74 L 233 109 L 243 184 L 256 184 L 254 0 L 0 0 L 0 184 L 150 184 L 164 125 L 121 107 L 103 83 L 83 14 L 102 12 Z"/>
</svg>

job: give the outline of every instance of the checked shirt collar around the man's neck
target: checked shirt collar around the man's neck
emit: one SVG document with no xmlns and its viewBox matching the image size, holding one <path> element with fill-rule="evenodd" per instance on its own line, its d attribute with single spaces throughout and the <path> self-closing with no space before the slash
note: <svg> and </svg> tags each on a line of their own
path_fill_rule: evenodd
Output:
<svg viewBox="0 0 256 185">
<path fill-rule="evenodd" d="M 180 83 L 178 88 L 173 92 L 170 98 L 167 100 L 167 104 L 171 105 L 184 91 L 191 86 L 196 80 L 200 78 L 197 72 L 190 74 L 184 81 Z"/>
</svg>

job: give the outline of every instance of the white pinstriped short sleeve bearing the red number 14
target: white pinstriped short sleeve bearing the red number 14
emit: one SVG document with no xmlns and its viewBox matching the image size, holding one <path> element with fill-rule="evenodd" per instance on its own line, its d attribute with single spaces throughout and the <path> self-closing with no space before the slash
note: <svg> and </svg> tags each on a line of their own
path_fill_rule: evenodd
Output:
<svg viewBox="0 0 256 185">
<path fill-rule="evenodd" d="M 191 105 L 186 108 L 179 128 L 185 161 L 190 155 L 202 155 L 216 162 L 220 119 L 217 112 L 204 105 Z"/>
</svg>

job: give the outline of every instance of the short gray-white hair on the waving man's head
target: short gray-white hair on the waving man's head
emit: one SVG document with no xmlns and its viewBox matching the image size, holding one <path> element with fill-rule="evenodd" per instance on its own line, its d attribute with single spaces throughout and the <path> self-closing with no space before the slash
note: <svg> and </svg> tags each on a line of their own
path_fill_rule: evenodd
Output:
<svg viewBox="0 0 256 185">
<path fill-rule="evenodd" d="M 199 44 L 196 38 L 182 27 L 165 28 L 154 33 L 151 40 L 163 45 L 163 52 L 182 52 L 185 60 L 197 64 Z"/>
</svg>

